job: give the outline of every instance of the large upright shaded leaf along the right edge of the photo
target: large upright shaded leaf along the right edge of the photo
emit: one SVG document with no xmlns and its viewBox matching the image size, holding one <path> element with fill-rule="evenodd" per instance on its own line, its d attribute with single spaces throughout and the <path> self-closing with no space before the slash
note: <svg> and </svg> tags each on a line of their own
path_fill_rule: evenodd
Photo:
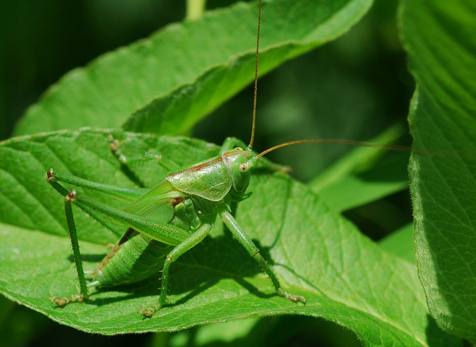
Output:
<svg viewBox="0 0 476 347">
<path fill-rule="evenodd" d="M 476 343 L 476 4 L 405 0 L 418 273 L 431 315 Z"/>
</svg>

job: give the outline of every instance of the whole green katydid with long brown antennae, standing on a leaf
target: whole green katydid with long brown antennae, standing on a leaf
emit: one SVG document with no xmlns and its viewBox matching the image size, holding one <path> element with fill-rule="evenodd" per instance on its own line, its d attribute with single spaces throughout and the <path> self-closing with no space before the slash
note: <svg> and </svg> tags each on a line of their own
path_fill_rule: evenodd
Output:
<svg viewBox="0 0 476 347">
<path fill-rule="evenodd" d="M 260 18 L 261 4 L 258 43 Z M 252 152 L 258 51 L 259 44 L 257 44 L 253 127 L 248 146 L 241 141 L 228 138 L 222 145 L 218 156 L 187 168 L 178 168 L 168 158 L 162 158 L 159 153 L 155 156 L 129 158 L 122 153 L 120 142 L 111 138 L 111 149 L 123 164 L 127 165 L 134 160 L 155 160 L 158 165 L 169 171 L 160 183 L 145 194 L 142 194 L 143 191 L 139 189 L 106 186 L 61 173 L 55 169 L 48 171 L 48 182 L 61 195 L 65 196 L 66 220 L 80 282 L 79 294 L 70 297 L 55 296 L 51 298 L 53 302 L 58 305 L 82 302 L 88 299 L 88 286 L 133 283 L 153 276 L 162 269 L 158 302 L 151 307 L 139 310 L 143 316 L 152 316 L 166 303 L 171 263 L 206 237 L 217 215 L 270 277 L 278 295 L 294 302 L 306 302 L 304 296 L 288 293 L 281 287 L 272 267 L 265 261 L 259 249 L 231 213 L 237 202 L 249 196 L 247 188 L 251 171 L 261 156 L 285 145 L 299 142 L 325 142 L 323 140 L 302 140 L 279 145 L 259 155 Z M 111 197 L 120 196 L 126 201 L 130 201 L 130 204 L 122 210 L 115 209 L 80 194 L 76 190 L 68 191 L 60 182 L 101 192 Z M 113 250 L 91 273 L 92 281 L 89 283 L 86 282 L 82 268 L 72 203 L 98 220 L 103 218 L 102 215 L 106 215 L 129 227 Z M 140 260 L 141 258 L 156 259 L 156 261 L 144 262 Z"/>
</svg>

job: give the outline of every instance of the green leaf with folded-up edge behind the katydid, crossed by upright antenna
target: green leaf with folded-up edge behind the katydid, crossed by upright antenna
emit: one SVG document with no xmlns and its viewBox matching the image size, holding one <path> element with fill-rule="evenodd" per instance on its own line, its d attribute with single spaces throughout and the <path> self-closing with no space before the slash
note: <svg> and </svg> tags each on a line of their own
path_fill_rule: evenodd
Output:
<svg viewBox="0 0 476 347">
<path fill-rule="evenodd" d="M 265 2 L 261 74 L 339 37 L 371 4 Z M 253 80 L 257 17 L 256 3 L 237 4 L 105 54 L 53 85 L 15 133 L 117 128 L 125 122 L 128 130 L 183 134 Z M 174 117 L 177 112 L 181 117 Z"/>
</svg>

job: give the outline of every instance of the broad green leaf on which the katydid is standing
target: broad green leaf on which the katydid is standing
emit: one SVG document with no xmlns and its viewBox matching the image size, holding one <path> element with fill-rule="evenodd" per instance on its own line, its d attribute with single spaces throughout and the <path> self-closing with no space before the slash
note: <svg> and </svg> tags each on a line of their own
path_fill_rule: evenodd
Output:
<svg viewBox="0 0 476 347">
<path fill-rule="evenodd" d="M 237 220 L 257 242 L 283 286 L 306 304 L 275 295 L 268 278 L 217 222 L 203 242 L 171 267 L 170 305 L 152 318 L 137 310 L 158 299 L 156 278 L 96 290 L 90 300 L 55 307 L 53 295 L 77 293 L 63 198 L 47 183 L 55 167 L 107 184 L 132 187 L 111 153 L 109 131 L 83 130 L 0 143 L 0 290 L 52 319 L 87 332 L 173 331 L 257 315 L 324 317 L 355 331 L 366 345 L 452 345 L 428 319 L 414 265 L 383 252 L 304 185 L 257 170 Z M 211 157 L 218 147 L 187 138 L 114 132 L 128 153 L 155 153 L 179 165 Z M 164 177 L 150 163 L 131 168 L 146 186 Z M 93 195 L 93 194 L 91 194 Z M 100 195 L 97 199 L 113 206 Z M 75 208 L 84 267 L 94 269 L 114 241 L 111 232 Z M 118 225 L 120 228 L 121 226 Z"/>
</svg>

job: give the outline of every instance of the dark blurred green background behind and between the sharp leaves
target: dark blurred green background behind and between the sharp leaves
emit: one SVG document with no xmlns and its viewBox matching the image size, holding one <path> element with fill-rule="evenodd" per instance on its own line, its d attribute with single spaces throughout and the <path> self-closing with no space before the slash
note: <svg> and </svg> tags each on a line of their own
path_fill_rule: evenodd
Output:
<svg viewBox="0 0 476 347">
<path fill-rule="evenodd" d="M 231 0 L 209 0 L 207 9 Z M 303 138 L 369 140 L 395 123 L 406 126 L 413 80 L 396 26 L 396 0 L 376 0 L 350 32 L 282 65 L 259 81 L 255 148 Z M 185 3 L 174 0 L 18 0 L 0 4 L 0 139 L 48 86 L 67 71 L 127 45 L 168 23 L 181 21 Z M 262 35 L 266 35 L 263 14 Z M 226 136 L 248 141 L 253 88 L 202 121 L 192 136 L 220 144 Z M 407 131 L 401 144 L 410 145 Z M 269 155 L 293 167 L 306 182 L 349 148 L 303 145 Z M 344 213 L 379 240 L 411 222 L 408 192 Z M 0 345 L 70 347 L 101 344 L 359 345 L 355 335 L 310 317 L 273 317 L 209 325 L 177 333 L 105 337 L 60 326 L 40 313 L 0 297 Z"/>
</svg>

